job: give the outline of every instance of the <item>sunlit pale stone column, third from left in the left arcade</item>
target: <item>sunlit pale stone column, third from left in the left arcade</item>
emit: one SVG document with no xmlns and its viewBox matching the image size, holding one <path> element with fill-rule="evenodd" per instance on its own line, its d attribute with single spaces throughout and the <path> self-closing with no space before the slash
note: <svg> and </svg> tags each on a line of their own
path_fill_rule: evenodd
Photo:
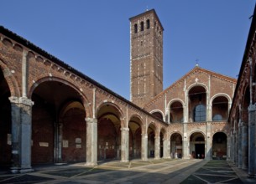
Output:
<svg viewBox="0 0 256 184">
<path fill-rule="evenodd" d="M 129 129 L 121 128 L 121 161 L 129 161 Z"/>
</svg>

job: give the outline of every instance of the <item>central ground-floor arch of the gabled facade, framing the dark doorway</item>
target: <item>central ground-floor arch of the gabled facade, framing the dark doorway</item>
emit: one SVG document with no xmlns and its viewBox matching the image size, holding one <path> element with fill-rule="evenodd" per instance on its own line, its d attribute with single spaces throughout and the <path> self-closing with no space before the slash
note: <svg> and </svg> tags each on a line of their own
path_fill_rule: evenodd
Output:
<svg viewBox="0 0 256 184">
<path fill-rule="evenodd" d="M 190 154 L 192 158 L 205 158 L 205 136 L 195 132 L 190 137 Z"/>
</svg>

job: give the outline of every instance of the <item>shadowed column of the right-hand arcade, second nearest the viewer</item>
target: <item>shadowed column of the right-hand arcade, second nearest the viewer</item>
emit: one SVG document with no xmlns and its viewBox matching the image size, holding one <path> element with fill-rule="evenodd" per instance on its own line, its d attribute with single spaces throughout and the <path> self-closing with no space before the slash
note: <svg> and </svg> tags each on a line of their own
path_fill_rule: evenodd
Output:
<svg viewBox="0 0 256 184">
<path fill-rule="evenodd" d="M 238 139 L 240 141 L 240 139 Z M 240 148 L 238 148 L 240 150 Z M 242 169 L 248 169 L 248 125 L 242 122 Z"/>
</svg>

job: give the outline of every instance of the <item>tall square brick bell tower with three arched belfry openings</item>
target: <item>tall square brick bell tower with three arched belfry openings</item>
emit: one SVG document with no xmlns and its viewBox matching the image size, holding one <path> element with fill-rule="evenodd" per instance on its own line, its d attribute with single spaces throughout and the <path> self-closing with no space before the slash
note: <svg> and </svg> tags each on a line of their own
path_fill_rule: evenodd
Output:
<svg viewBox="0 0 256 184">
<path fill-rule="evenodd" d="M 154 9 L 130 20 L 130 100 L 140 106 L 163 91 L 163 31 Z"/>
</svg>

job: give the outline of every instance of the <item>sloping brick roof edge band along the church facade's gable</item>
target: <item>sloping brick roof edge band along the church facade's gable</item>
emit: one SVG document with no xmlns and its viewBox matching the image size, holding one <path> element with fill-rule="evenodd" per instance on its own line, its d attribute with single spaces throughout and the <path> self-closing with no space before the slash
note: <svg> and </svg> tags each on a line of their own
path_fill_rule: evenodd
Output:
<svg viewBox="0 0 256 184">
<path fill-rule="evenodd" d="M 228 77 L 227 75 L 223 75 L 223 74 L 218 74 L 216 72 L 213 72 L 211 70 L 208 69 L 202 69 L 199 66 L 194 67 L 194 69 L 191 69 L 191 71 L 189 71 L 187 74 L 185 74 L 183 77 L 181 77 L 180 79 L 176 80 L 175 83 L 171 84 L 168 88 L 166 88 L 165 90 L 163 90 L 161 93 L 159 93 L 159 95 L 156 95 L 154 97 L 153 100 L 150 100 L 149 103 L 147 103 L 146 105 L 144 105 L 144 107 L 147 107 L 149 105 L 151 105 L 152 103 L 154 103 L 154 101 L 158 100 L 159 98 L 161 98 L 163 95 L 165 95 L 170 89 L 174 88 L 177 84 L 180 83 L 180 81 L 183 81 L 184 79 L 186 79 L 189 75 L 196 73 L 198 71 L 201 71 L 203 73 L 206 74 L 211 74 L 212 76 L 219 78 L 219 79 L 223 79 L 226 80 L 228 82 L 231 82 L 233 84 L 237 84 L 237 79 L 234 79 L 232 77 Z"/>
</svg>

